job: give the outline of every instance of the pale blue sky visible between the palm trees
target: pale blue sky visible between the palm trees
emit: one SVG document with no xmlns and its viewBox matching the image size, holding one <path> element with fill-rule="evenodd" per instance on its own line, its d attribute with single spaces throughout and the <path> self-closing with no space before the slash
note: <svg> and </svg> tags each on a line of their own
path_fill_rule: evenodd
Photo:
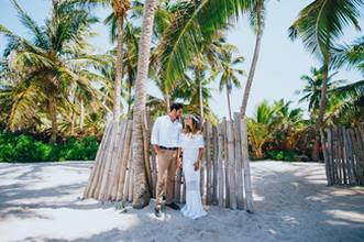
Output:
<svg viewBox="0 0 364 242">
<path fill-rule="evenodd" d="M 49 14 L 51 0 L 18 0 L 20 6 L 38 23 Z M 312 66 L 320 67 L 317 58 L 310 55 L 304 48 L 302 43 L 297 40 L 291 42 L 288 38 L 288 28 L 297 18 L 299 11 L 308 6 L 312 0 L 271 0 L 266 8 L 266 24 L 262 41 L 261 54 L 257 68 L 255 72 L 254 81 L 252 85 L 251 96 L 247 105 L 247 116 L 252 116 L 256 106 L 264 99 L 271 103 L 273 100 L 284 98 L 291 100 L 291 107 L 300 107 L 307 109 L 306 103 L 298 103 L 299 96 L 295 95 L 296 90 L 302 89 L 305 84 L 300 80 L 301 75 L 309 74 Z M 96 10 L 96 15 L 103 20 L 109 13 L 108 9 Z M 364 15 L 364 13 L 363 13 Z M 254 51 L 255 35 L 243 18 L 228 33 L 228 42 L 234 44 L 239 48 L 239 55 L 244 56 L 245 62 L 241 67 L 249 73 L 251 59 Z M 360 20 L 360 24 L 364 28 L 364 19 Z M 16 32 L 22 36 L 26 36 L 26 30 L 21 25 L 16 18 L 16 12 L 10 3 L 10 0 L 0 0 L 0 24 Z M 97 52 L 104 52 L 111 48 L 108 36 L 108 28 L 102 23 L 93 26 L 93 31 L 98 36 L 90 40 L 96 46 Z M 352 43 L 356 37 L 363 35 L 352 28 L 344 30 L 344 36 L 340 43 Z M 0 35 L 0 53 L 5 46 L 5 38 Z M 341 69 L 335 76 L 338 79 L 348 79 L 355 81 L 362 78 L 356 70 Z M 233 111 L 239 111 L 244 92 L 246 77 L 241 77 L 241 89 L 234 89 L 231 96 L 231 105 Z M 228 116 L 227 98 L 224 92 L 219 92 L 218 81 L 211 85 L 212 100 L 210 106 L 219 118 Z M 161 96 L 157 88 L 150 82 L 147 91 L 154 96 Z M 307 112 L 306 112 L 307 114 Z"/>
</svg>

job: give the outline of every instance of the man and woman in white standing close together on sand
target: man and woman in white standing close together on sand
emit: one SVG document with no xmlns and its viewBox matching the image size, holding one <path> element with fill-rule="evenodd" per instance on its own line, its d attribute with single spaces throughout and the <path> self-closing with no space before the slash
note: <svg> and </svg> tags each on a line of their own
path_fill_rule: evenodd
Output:
<svg viewBox="0 0 364 242">
<path fill-rule="evenodd" d="M 162 215 L 164 195 L 165 206 L 180 210 L 173 201 L 176 170 L 180 166 L 186 182 L 186 205 L 181 209 L 183 215 L 190 219 L 207 215 L 200 195 L 200 166 L 203 155 L 201 120 L 197 116 L 189 114 L 184 119 L 183 128 L 183 109 L 181 103 L 173 103 L 169 113 L 158 117 L 152 130 L 152 145 L 157 154 L 158 166 L 154 208 L 156 217 Z"/>
</svg>

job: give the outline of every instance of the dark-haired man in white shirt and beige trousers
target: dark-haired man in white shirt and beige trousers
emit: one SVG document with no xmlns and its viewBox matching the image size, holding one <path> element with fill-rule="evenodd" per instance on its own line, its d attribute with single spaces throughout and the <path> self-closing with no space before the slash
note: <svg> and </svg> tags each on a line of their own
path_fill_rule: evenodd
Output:
<svg viewBox="0 0 364 242">
<path fill-rule="evenodd" d="M 173 103 L 170 111 L 166 116 L 158 117 L 155 120 L 152 130 L 152 145 L 158 157 L 158 178 L 155 195 L 154 213 L 161 217 L 162 199 L 164 189 L 166 189 L 166 206 L 179 210 L 178 205 L 173 202 L 173 187 L 175 185 L 175 175 L 177 169 L 177 146 L 181 132 L 179 119 L 183 114 L 183 105 Z"/>
</svg>

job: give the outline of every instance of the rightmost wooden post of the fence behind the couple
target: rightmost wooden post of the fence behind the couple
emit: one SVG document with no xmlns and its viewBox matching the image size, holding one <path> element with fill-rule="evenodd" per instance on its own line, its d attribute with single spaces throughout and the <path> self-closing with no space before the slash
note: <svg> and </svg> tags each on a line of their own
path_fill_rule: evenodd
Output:
<svg viewBox="0 0 364 242">
<path fill-rule="evenodd" d="M 254 212 L 253 208 L 253 189 L 251 182 L 251 166 L 249 161 L 249 143 L 246 132 L 245 117 L 241 117 L 241 142 L 243 148 L 243 168 L 244 168 L 244 186 L 245 186 L 245 209 L 247 212 Z"/>
</svg>

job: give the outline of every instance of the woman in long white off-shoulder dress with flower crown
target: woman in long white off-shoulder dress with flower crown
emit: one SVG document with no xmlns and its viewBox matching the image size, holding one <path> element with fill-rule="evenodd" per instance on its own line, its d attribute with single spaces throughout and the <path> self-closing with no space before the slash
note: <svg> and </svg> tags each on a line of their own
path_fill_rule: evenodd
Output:
<svg viewBox="0 0 364 242">
<path fill-rule="evenodd" d="M 200 167 L 203 155 L 203 136 L 200 121 L 195 116 L 187 116 L 185 130 L 179 138 L 179 152 L 183 152 L 183 170 L 186 182 L 186 205 L 181 209 L 185 217 L 197 219 L 206 216 L 200 194 Z M 178 154 L 179 154 L 178 152 Z"/>
</svg>

